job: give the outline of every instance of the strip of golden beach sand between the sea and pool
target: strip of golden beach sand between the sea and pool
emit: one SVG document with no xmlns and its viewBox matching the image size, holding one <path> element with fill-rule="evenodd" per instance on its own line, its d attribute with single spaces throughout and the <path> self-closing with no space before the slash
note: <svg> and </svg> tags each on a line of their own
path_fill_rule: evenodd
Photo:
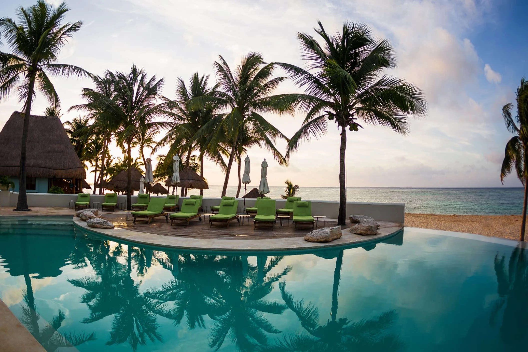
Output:
<svg viewBox="0 0 528 352">
<path fill-rule="evenodd" d="M 518 240 L 521 215 L 405 214 L 405 226 L 422 229 L 475 233 Z"/>
</svg>

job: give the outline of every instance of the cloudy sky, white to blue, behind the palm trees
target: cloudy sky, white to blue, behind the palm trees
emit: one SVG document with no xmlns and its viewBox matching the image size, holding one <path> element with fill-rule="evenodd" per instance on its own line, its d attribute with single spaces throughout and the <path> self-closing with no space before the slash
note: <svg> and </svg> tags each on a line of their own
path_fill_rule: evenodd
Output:
<svg viewBox="0 0 528 352">
<path fill-rule="evenodd" d="M 29 6 L 33 1 L 16 4 Z M 0 2 L 0 16 L 14 17 L 17 5 Z M 397 54 L 398 68 L 386 73 L 416 84 L 429 109 L 427 117 L 410 121 L 407 136 L 370 125 L 347 134 L 347 186 L 502 186 L 504 147 L 512 135 L 501 109 L 514 102 L 526 74 L 528 46 L 523 43 L 528 24 L 522 14 L 528 4 L 521 0 L 92 0 L 69 1 L 68 6 L 67 20 L 81 20 L 83 26 L 64 46 L 59 62 L 94 74 L 128 71 L 135 63 L 165 79 L 166 97 L 174 97 L 177 77 L 188 81 L 199 72 L 213 80 L 218 55 L 231 68 L 250 51 L 262 53 L 268 62 L 303 66 L 297 32 L 315 34 L 317 20 L 327 32 L 339 30 L 344 21 L 369 24 Z M 277 70 L 276 75 L 284 72 Z M 67 109 L 83 102 L 80 91 L 92 87 L 91 81 L 55 78 L 53 83 L 61 98 L 62 120 L 79 116 Z M 287 81 L 277 93 L 296 91 Z M 37 96 L 32 113 L 39 115 L 46 106 Z M 14 110 L 21 110 L 15 96 L 0 102 L 0 127 Z M 300 113 L 265 117 L 286 136 L 294 135 L 303 120 Z M 281 186 L 287 178 L 299 186 L 338 186 L 340 136 L 334 125 L 329 123 L 326 136 L 304 142 L 288 167 L 278 165 L 266 149 L 250 149 L 249 187 L 258 187 L 264 158 L 270 186 Z M 286 149 L 285 142 L 277 145 Z M 114 151 L 120 153 L 117 147 Z M 163 149 L 152 155 L 153 161 L 158 154 Z M 210 185 L 223 184 L 224 175 L 211 162 L 205 164 L 204 176 Z M 88 181 L 92 179 L 89 174 Z M 237 182 L 233 172 L 230 185 Z M 521 183 L 511 175 L 504 185 Z"/>
</svg>

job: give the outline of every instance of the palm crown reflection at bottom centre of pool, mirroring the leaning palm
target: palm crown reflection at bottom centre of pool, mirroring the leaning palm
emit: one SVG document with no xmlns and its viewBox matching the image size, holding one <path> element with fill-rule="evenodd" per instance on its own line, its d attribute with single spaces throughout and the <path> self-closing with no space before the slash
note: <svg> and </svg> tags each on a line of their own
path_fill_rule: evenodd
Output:
<svg viewBox="0 0 528 352">
<path fill-rule="evenodd" d="M 286 306 L 263 298 L 273 290 L 274 283 L 291 270 L 286 267 L 280 273 L 270 275 L 269 272 L 281 260 L 282 256 L 272 257 L 260 273 L 258 268 L 251 265 L 245 274 L 240 256 L 228 256 L 219 261 L 222 265 L 218 272 L 221 284 L 215 288 L 217 294 L 214 300 L 220 303 L 224 313 L 214 317 L 209 347 L 218 350 L 229 336 L 238 350 L 254 351 L 259 345 L 267 343 L 265 332 L 280 332 L 263 313 L 281 314 Z M 262 274 L 261 281 L 259 277 Z"/>
</svg>

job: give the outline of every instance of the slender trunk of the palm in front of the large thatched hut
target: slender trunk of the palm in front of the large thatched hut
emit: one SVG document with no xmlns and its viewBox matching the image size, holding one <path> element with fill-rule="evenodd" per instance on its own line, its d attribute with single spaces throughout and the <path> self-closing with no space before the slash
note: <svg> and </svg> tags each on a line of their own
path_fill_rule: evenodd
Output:
<svg viewBox="0 0 528 352">
<path fill-rule="evenodd" d="M 33 99 L 33 91 L 35 88 L 35 76 L 36 67 L 33 67 L 33 71 L 30 75 L 30 84 L 27 88 L 27 100 L 26 100 L 26 111 L 24 115 L 24 122 L 22 127 L 22 146 L 20 148 L 20 178 L 18 178 L 18 201 L 16 202 L 17 212 L 27 212 L 31 209 L 27 206 L 27 194 L 26 194 L 26 148 L 27 148 L 27 133 L 30 129 L 30 118 L 31 118 L 31 102 Z"/>
</svg>

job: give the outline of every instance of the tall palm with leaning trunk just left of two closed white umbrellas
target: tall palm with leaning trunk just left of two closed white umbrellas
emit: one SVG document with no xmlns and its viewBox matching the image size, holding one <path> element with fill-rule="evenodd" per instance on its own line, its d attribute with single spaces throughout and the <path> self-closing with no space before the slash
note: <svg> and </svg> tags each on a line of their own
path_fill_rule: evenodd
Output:
<svg viewBox="0 0 528 352">
<path fill-rule="evenodd" d="M 225 172 L 222 196 L 225 196 L 229 183 L 229 175 L 233 160 L 237 156 L 238 140 L 243 128 L 251 128 L 264 141 L 264 145 L 272 152 L 279 164 L 286 164 L 286 159 L 277 150 L 274 143 L 277 138 L 288 141 L 276 127 L 271 125 L 261 112 L 291 112 L 288 106 L 270 96 L 280 82 L 286 77 L 271 78 L 275 64 L 266 63 L 262 55 L 250 52 L 242 59 L 237 69 L 231 72 L 229 65 L 220 56 L 220 61 L 213 64 L 221 91 L 214 97 L 197 101 L 214 101 L 222 109 L 229 109 L 228 113 L 220 114 L 201 129 L 198 136 L 208 135 L 208 146 L 220 144 L 225 138 L 229 141 L 231 151 Z"/>
</svg>

